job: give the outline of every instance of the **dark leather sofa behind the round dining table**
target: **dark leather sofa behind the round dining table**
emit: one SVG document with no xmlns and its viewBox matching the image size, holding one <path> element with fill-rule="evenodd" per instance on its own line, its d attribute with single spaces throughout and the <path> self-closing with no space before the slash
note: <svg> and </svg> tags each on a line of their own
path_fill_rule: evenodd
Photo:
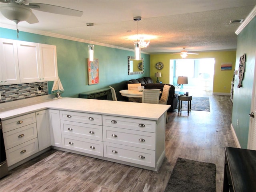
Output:
<svg viewBox="0 0 256 192">
<path fill-rule="evenodd" d="M 163 84 L 163 83 L 154 83 L 151 77 L 131 79 L 127 81 L 127 84 L 128 83 L 141 83 L 141 85 L 144 86 L 145 89 L 160 89 L 161 91 L 163 91 L 164 85 L 170 85 L 170 84 Z M 175 94 L 175 87 L 173 85 L 170 85 L 170 86 L 171 88 L 170 88 L 167 104 L 171 105 L 170 109 L 168 109 L 168 112 L 173 112 L 174 109 L 176 109 L 178 104 L 178 94 Z M 160 98 L 161 98 L 161 95 L 162 94 L 160 94 Z"/>
</svg>

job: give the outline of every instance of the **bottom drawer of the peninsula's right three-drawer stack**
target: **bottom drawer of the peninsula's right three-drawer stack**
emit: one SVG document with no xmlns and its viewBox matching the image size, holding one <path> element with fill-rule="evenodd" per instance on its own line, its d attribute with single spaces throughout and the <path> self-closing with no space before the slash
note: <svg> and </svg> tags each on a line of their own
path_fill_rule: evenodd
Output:
<svg viewBox="0 0 256 192">
<path fill-rule="evenodd" d="M 155 151 L 104 142 L 104 157 L 155 167 Z"/>
</svg>

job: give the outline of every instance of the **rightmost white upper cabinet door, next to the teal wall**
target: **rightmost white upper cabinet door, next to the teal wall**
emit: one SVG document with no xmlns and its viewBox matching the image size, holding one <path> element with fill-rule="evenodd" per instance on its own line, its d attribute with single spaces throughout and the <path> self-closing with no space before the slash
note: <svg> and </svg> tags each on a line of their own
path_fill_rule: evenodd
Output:
<svg viewBox="0 0 256 192">
<path fill-rule="evenodd" d="M 58 80 L 56 46 L 39 44 L 41 79 Z"/>
</svg>

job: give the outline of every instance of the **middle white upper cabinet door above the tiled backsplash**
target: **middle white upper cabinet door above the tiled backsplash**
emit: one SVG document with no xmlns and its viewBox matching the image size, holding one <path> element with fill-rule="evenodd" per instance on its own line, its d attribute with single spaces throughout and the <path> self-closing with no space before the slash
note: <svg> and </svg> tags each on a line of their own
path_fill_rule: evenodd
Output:
<svg viewBox="0 0 256 192">
<path fill-rule="evenodd" d="M 17 41 L 20 82 L 40 81 L 39 44 Z"/>
</svg>

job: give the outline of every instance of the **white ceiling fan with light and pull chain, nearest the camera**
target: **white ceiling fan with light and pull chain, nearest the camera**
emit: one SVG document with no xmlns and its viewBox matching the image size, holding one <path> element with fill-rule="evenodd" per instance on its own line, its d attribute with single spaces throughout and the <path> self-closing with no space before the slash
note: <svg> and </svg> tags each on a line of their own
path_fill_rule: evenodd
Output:
<svg viewBox="0 0 256 192">
<path fill-rule="evenodd" d="M 30 24 L 38 23 L 39 21 L 31 9 L 76 17 L 80 17 L 83 14 L 82 11 L 50 4 L 29 3 L 26 5 L 24 4 L 26 0 L 0 0 L 0 2 L 6 3 L 1 4 L 0 7 L 3 16 L 14 21 L 16 24 L 21 21 L 26 21 Z"/>
</svg>

